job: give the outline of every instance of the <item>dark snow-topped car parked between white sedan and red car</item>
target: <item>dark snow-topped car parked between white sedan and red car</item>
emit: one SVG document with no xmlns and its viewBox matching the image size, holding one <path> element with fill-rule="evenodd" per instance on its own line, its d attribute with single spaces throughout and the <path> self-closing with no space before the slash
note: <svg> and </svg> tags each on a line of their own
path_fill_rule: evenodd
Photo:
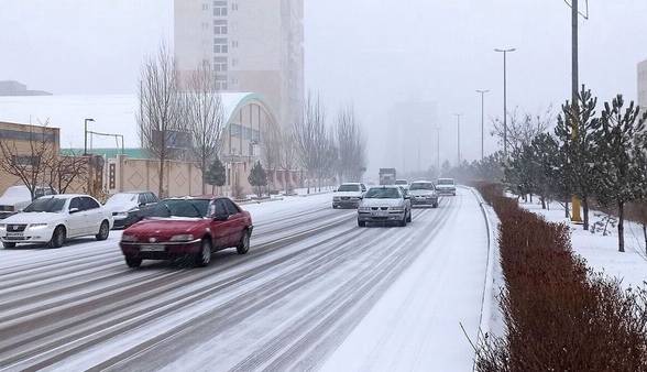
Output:
<svg viewBox="0 0 647 372">
<path fill-rule="evenodd" d="M 106 201 L 106 208 L 112 212 L 113 229 L 125 229 L 151 216 L 158 201 L 151 192 L 119 193 Z"/>
</svg>

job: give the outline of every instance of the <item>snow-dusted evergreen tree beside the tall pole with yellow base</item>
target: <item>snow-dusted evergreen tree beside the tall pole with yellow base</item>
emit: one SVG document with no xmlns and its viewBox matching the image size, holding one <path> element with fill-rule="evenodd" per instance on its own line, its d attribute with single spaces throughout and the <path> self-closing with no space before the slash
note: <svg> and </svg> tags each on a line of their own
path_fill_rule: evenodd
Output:
<svg viewBox="0 0 647 372">
<path fill-rule="evenodd" d="M 555 135 L 559 140 L 560 152 L 566 155 L 559 165 L 566 177 L 566 192 L 571 192 L 582 201 L 584 230 L 589 229 L 589 199 L 597 187 L 594 173 L 596 156 L 595 136 L 600 133 L 600 120 L 595 118 L 597 98 L 582 86 L 578 102 L 562 106 L 562 114 L 557 119 Z M 573 128 L 575 130 L 573 131 Z"/>
</svg>

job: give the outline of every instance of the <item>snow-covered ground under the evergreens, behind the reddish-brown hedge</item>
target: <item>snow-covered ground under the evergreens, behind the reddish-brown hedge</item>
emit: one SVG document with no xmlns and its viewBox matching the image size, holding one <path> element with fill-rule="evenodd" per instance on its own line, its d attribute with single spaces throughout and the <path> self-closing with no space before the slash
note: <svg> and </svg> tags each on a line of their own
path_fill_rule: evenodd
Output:
<svg viewBox="0 0 647 372">
<path fill-rule="evenodd" d="M 544 216 L 548 221 L 567 223 L 571 229 L 571 243 L 575 253 L 582 256 L 595 272 L 622 281 L 625 287 L 641 286 L 647 281 L 647 255 L 645 239 L 639 225 L 625 221 L 625 252 L 617 250 L 617 228 L 608 226 L 607 234 L 584 231 L 581 225 L 571 223 L 564 217 L 563 207 L 552 203 L 550 210 L 542 210 L 536 203 L 520 203 L 528 210 Z M 591 211 L 591 226 L 601 221 L 604 214 Z"/>
</svg>

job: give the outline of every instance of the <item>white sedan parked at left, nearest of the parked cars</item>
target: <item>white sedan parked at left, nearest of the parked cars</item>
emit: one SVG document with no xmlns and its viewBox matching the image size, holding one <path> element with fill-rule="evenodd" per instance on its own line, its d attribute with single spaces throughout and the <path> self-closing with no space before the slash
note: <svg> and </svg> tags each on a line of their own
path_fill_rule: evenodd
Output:
<svg viewBox="0 0 647 372">
<path fill-rule="evenodd" d="M 43 196 L 21 214 L 0 223 L 0 240 L 4 248 L 18 243 L 46 243 L 59 248 L 69 238 L 95 236 L 108 239 L 112 216 L 99 201 L 88 195 Z"/>
</svg>

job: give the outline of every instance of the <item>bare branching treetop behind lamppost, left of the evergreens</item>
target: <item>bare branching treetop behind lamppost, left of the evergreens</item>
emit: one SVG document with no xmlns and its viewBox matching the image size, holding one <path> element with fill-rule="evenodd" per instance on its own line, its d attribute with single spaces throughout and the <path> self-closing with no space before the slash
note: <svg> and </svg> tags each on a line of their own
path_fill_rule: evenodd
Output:
<svg viewBox="0 0 647 372">
<path fill-rule="evenodd" d="M 552 106 L 537 114 L 519 113 L 518 107 L 508 113 L 507 120 L 507 145 L 511 153 L 519 152 L 525 145 L 529 145 L 533 139 L 539 133 L 548 131 L 555 122 Z M 492 120 L 493 130 L 490 133 L 496 138 L 500 146 L 503 147 L 505 128 L 503 119 Z"/>
</svg>

